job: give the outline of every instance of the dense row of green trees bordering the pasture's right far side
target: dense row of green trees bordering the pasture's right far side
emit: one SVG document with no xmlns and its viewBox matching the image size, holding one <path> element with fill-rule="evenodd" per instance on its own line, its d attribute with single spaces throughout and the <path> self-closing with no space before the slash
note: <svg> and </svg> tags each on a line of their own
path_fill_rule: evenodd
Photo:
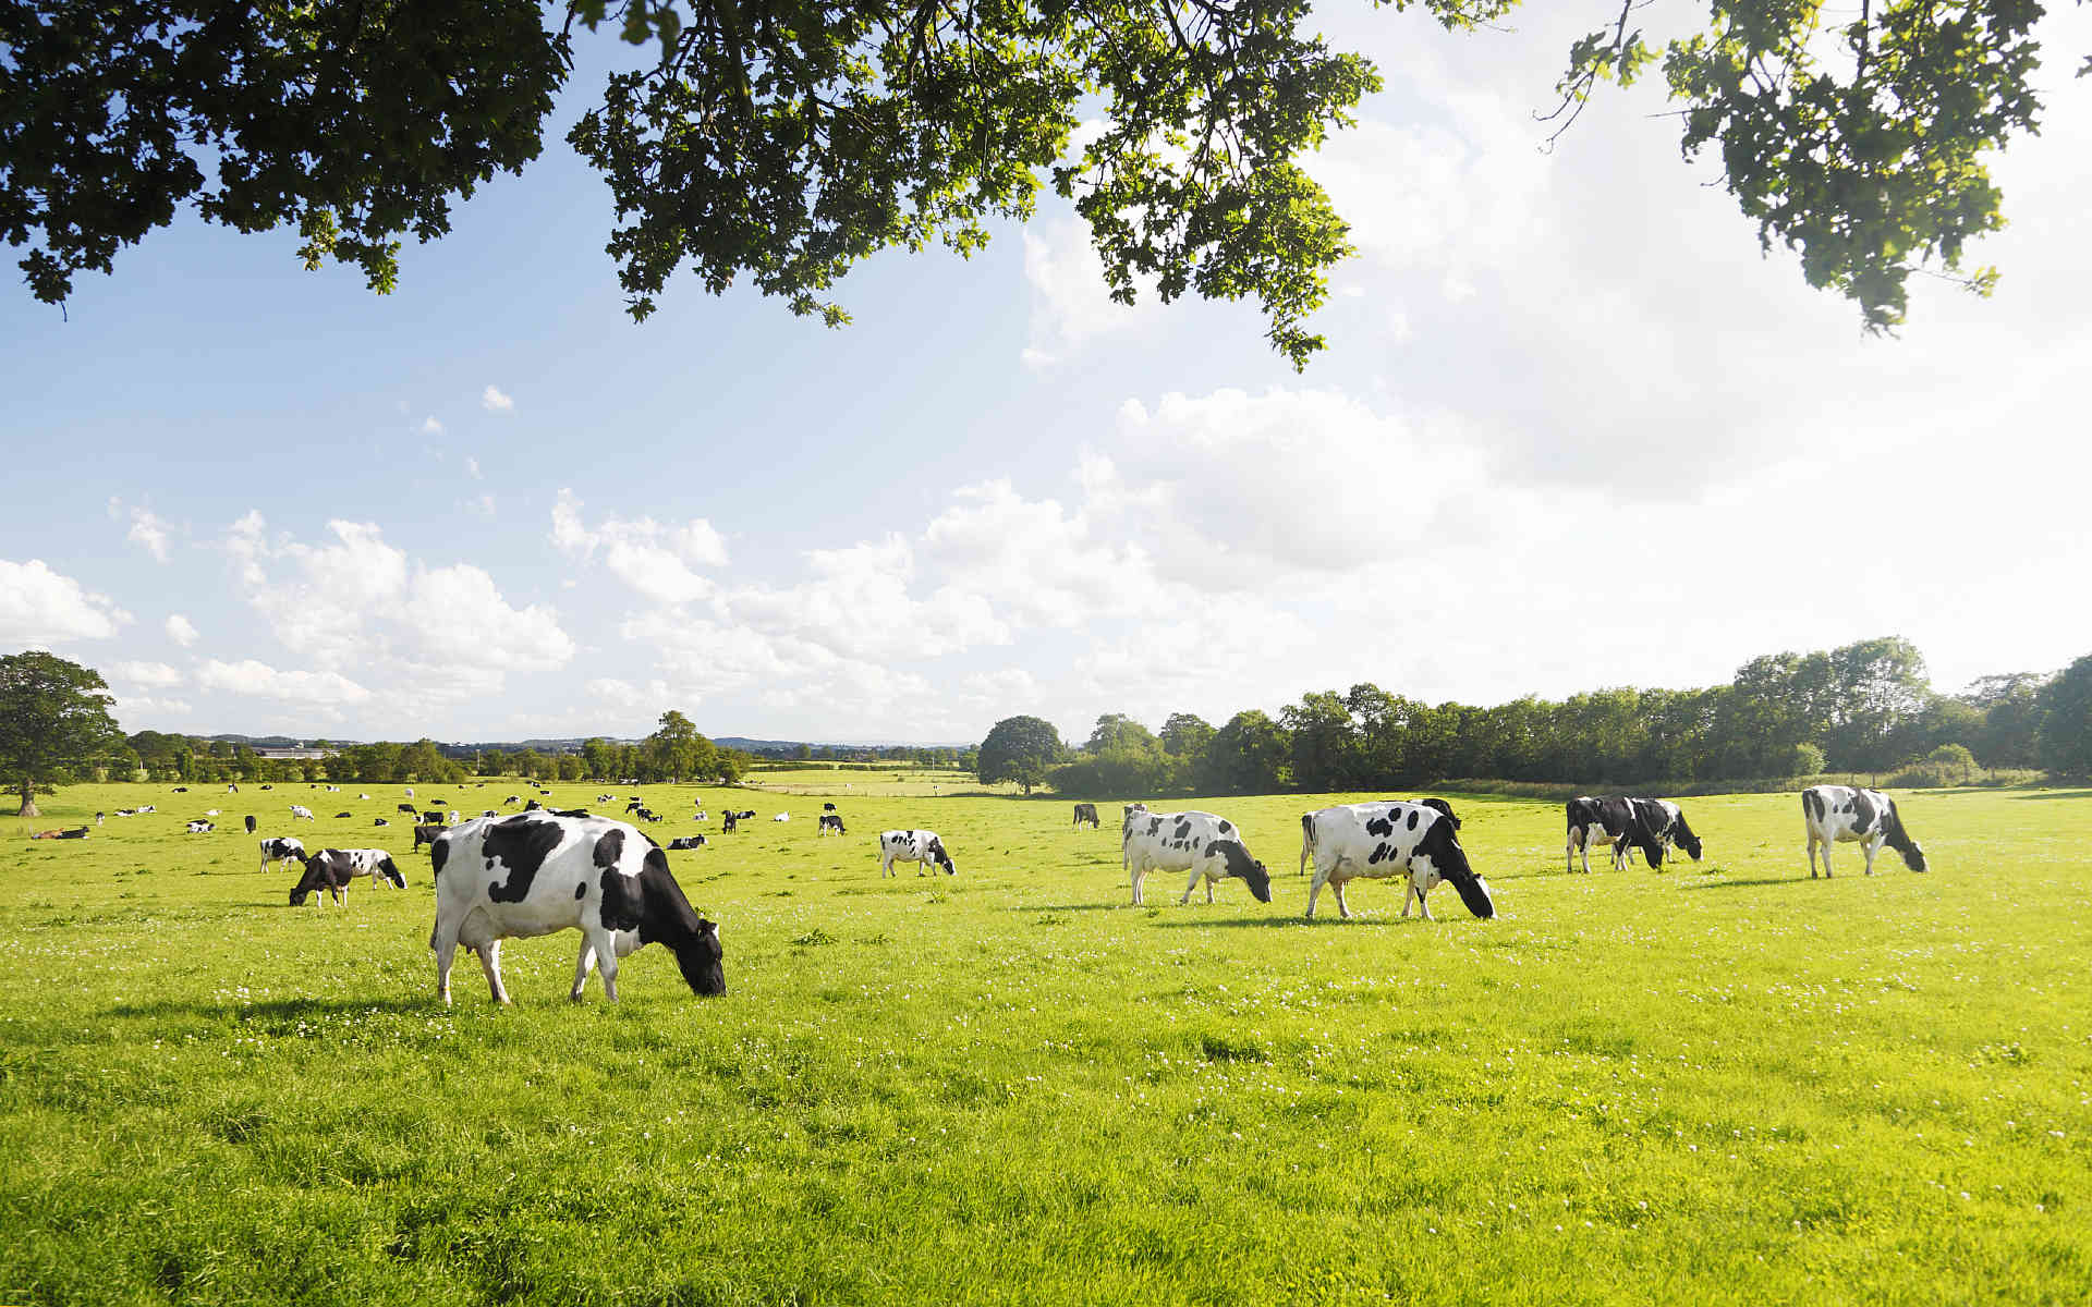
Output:
<svg viewBox="0 0 2092 1307">
<path fill-rule="evenodd" d="M 1897 636 L 1751 659 L 1726 686 L 1590 690 L 1496 707 L 1423 703 L 1374 684 L 1318 690 L 1224 726 L 1172 713 L 1159 732 L 1107 713 L 1079 749 L 1040 717 L 981 742 L 983 782 L 1071 797 L 1377 790 L 1446 780 L 1646 786 L 1822 772 L 1952 784 L 1979 767 L 2092 774 L 2092 655 L 2059 673 L 1933 690 Z"/>
</svg>

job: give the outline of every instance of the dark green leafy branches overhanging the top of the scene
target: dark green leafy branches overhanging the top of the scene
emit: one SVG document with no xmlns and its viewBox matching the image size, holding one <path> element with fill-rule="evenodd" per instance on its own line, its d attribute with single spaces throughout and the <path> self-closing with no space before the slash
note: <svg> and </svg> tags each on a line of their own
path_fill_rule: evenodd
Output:
<svg viewBox="0 0 2092 1307">
<path fill-rule="evenodd" d="M 1519 0 L 1389 2 L 1504 40 Z M 1602 25 L 1569 50 L 1567 119 L 1659 61 L 1642 0 L 1586 2 Z M 1684 153 L 1718 155 L 1761 243 L 1885 330 L 1912 272 L 1958 274 L 2002 224 L 1981 157 L 2038 125 L 2040 15 L 1711 0 L 1659 38 L 1661 69 Z M 308 268 L 356 263 L 389 291 L 404 236 L 446 234 L 454 199 L 540 155 L 573 42 L 602 29 L 644 56 L 567 140 L 611 186 L 634 318 L 688 266 L 841 324 L 851 266 L 969 253 L 1050 184 L 1113 299 L 1255 299 L 1295 366 L 1324 345 L 1305 318 L 1347 224 L 1299 159 L 1381 79 L 1314 33 L 1305 0 L 0 0 L 0 232 L 48 303 L 184 207 L 295 224 Z"/>
</svg>

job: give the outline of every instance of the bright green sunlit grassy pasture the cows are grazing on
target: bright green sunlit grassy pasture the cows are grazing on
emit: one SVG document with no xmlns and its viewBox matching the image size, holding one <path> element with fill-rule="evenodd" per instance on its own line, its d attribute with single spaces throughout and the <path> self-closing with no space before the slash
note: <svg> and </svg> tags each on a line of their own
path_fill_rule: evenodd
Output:
<svg viewBox="0 0 2092 1307">
<path fill-rule="evenodd" d="M 370 824 L 397 790 L 347 788 L 84 786 L 0 820 L 0 1303 L 2092 1286 L 2092 793 L 1916 795 L 1933 874 L 1864 878 L 1845 847 L 1814 882 L 1793 797 L 1695 799 L 1707 862 L 1588 878 L 1556 805 L 1473 799 L 1502 916 L 1441 889 L 1427 924 L 1393 882 L 1303 922 L 1299 797 L 1199 805 L 1272 903 L 1178 908 L 1151 878 L 1132 908 L 1117 832 L 1067 803 L 845 797 L 849 834 L 818 839 L 820 799 L 703 790 L 764 818 L 672 855 L 722 922 L 726 998 L 646 949 L 621 1006 L 594 983 L 569 1006 L 569 933 L 504 949 L 513 1010 L 460 962 L 446 1012 L 427 857 Z M 646 790 L 657 839 L 695 793 Z M 291 830 L 289 801 L 320 822 Z M 389 847 L 408 889 L 293 910 L 251 839 L 180 832 L 211 805 Z M 881 880 L 883 826 L 941 830 L 960 874 Z"/>
</svg>

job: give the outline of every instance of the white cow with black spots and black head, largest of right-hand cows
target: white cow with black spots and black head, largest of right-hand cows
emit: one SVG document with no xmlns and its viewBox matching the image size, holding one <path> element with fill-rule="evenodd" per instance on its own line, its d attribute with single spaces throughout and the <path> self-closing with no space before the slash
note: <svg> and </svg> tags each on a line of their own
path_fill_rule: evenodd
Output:
<svg viewBox="0 0 2092 1307">
<path fill-rule="evenodd" d="M 1351 916 L 1343 901 L 1345 882 L 1387 876 L 1408 876 L 1402 916 L 1410 914 L 1410 899 L 1416 899 L 1425 920 L 1433 920 L 1425 895 L 1439 880 L 1450 880 L 1475 916 L 1496 916 L 1490 882 L 1469 866 L 1452 818 L 1423 803 L 1383 799 L 1301 813 L 1301 857 L 1314 857 L 1308 916 L 1314 916 L 1324 885 L 1337 891 L 1337 912 Z"/>
</svg>

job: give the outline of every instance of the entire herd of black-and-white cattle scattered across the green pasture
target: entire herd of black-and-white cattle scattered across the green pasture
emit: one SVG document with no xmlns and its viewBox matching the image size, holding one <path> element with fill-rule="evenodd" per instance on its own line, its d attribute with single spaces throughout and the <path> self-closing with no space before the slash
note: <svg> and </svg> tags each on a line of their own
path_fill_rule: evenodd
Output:
<svg viewBox="0 0 2092 1307">
<path fill-rule="evenodd" d="M 268 786 L 264 786 L 268 788 Z M 328 786 L 333 788 L 333 786 Z M 412 790 L 408 790 L 412 795 Z M 540 790 L 550 797 L 550 790 Z M 368 795 L 362 795 L 368 799 Z M 615 795 L 598 795 L 598 803 L 615 801 Z M 402 803 L 400 811 L 412 813 L 414 849 L 429 849 L 435 876 L 435 928 L 429 933 L 429 947 L 437 960 L 437 989 L 450 1002 L 450 964 L 458 945 L 471 949 L 487 977 L 487 989 L 500 1004 L 508 1002 L 508 991 L 500 974 L 500 941 L 513 937 L 550 935 L 554 931 L 579 931 L 582 954 L 575 962 L 573 989 L 569 998 L 579 1000 L 588 974 L 602 970 L 602 991 L 617 1000 L 617 962 L 649 943 L 665 945 L 680 966 L 684 981 L 695 993 L 724 993 L 726 972 L 722 964 L 720 928 L 699 916 L 684 897 L 682 887 L 669 872 L 667 853 L 649 834 L 615 818 L 594 816 L 588 809 L 552 809 L 538 799 L 521 811 L 502 816 L 498 809 L 483 809 L 481 816 L 460 820 L 456 807 L 429 799 L 431 807 Z M 510 795 L 504 807 L 523 803 L 521 795 Z M 314 820 L 312 809 L 293 803 L 293 820 Z M 833 803 L 824 803 L 816 834 L 845 834 L 843 818 Z M 151 807 L 119 809 L 117 816 L 136 816 Z M 96 822 L 105 813 L 96 813 Z M 209 811 L 207 816 L 218 816 Z M 351 816 L 351 813 L 341 813 Z M 626 816 L 657 822 L 638 795 L 626 807 Z M 747 811 L 722 813 L 722 830 L 732 830 L 738 822 L 755 816 Z M 1686 822 L 1684 811 L 1667 799 L 1640 797 L 1579 797 L 1571 799 L 1567 816 L 1567 870 L 1577 870 L 1582 855 L 1584 872 L 1590 872 L 1590 847 L 1611 847 L 1613 868 L 1625 870 L 1632 851 L 1640 851 L 1651 868 L 1661 868 L 1672 849 L 1682 849 L 1699 862 L 1701 836 Z M 1904 828 L 1895 801 L 1879 790 L 1822 784 L 1801 793 L 1801 816 L 1807 830 L 1810 878 L 1816 872 L 1816 851 L 1822 849 L 1822 874 L 1830 874 L 1830 845 L 1860 843 L 1866 855 L 1866 874 L 1874 874 L 1874 855 L 1895 849 L 1914 872 L 1927 870 L 1925 851 Z M 707 820 L 699 801 L 697 820 Z M 774 822 L 789 822 L 791 813 L 776 813 Z M 379 826 L 387 820 L 379 818 Z M 1100 828 L 1094 803 L 1075 805 L 1075 826 Z M 188 822 L 190 832 L 207 832 L 207 820 Z M 86 828 L 82 828 L 84 832 Z M 255 820 L 247 818 L 253 834 Z M 1402 916 L 1414 903 L 1425 920 L 1431 920 L 1427 895 L 1448 882 L 1460 901 L 1477 918 L 1494 918 L 1496 901 L 1490 885 L 1469 864 L 1460 847 L 1460 818 L 1443 799 L 1381 799 L 1372 803 L 1345 803 L 1301 813 L 1301 857 L 1299 874 L 1314 864 L 1314 880 L 1308 887 L 1308 916 L 1314 916 L 1322 889 L 1337 899 L 1337 912 L 1351 916 L 1343 891 L 1351 880 L 1404 878 Z M 71 834 L 71 832 L 67 832 Z M 667 849 L 707 847 L 703 834 L 669 841 Z M 1132 882 L 1134 903 L 1142 901 L 1142 882 L 1149 872 L 1188 874 L 1178 903 L 1188 903 L 1201 880 L 1205 897 L 1213 901 L 1213 887 L 1220 880 L 1243 880 L 1259 903 L 1272 901 L 1272 876 L 1264 862 L 1255 859 L 1243 839 L 1243 830 L 1226 818 L 1209 811 L 1151 811 L 1144 803 L 1123 807 L 1119 847 L 1123 868 Z M 291 903 L 303 905 L 318 895 L 324 905 L 328 897 L 345 905 L 349 880 L 360 876 L 372 885 L 406 887 L 406 874 L 385 849 L 318 849 L 305 851 L 295 836 L 262 839 L 262 870 L 270 862 L 289 868 L 301 866 L 301 876 L 291 889 Z M 895 862 L 918 864 L 918 874 L 931 868 L 958 874 L 943 839 L 935 830 L 883 830 L 879 834 L 879 872 L 893 874 Z M 462 874 L 446 868 L 479 868 L 477 874 Z"/>
</svg>

